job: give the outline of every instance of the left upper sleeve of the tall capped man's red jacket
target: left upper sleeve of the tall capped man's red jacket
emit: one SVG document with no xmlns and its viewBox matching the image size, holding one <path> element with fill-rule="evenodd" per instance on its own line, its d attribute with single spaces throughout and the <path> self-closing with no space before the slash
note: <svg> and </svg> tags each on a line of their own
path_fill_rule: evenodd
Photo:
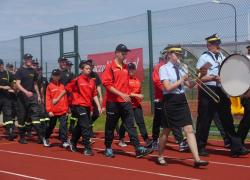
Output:
<svg viewBox="0 0 250 180">
<path fill-rule="evenodd" d="M 104 72 L 102 73 L 102 84 L 106 89 L 114 86 L 114 74 L 111 69 L 111 64 L 107 64 Z"/>
</svg>

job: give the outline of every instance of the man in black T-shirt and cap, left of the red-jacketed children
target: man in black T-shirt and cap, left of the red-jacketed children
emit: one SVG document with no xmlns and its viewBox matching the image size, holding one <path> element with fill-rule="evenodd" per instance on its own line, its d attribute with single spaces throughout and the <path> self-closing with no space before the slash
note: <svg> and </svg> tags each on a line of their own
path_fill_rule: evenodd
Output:
<svg viewBox="0 0 250 180">
<path fill-rule="evenodd" d="M 44 132 L 41 128 L 40 122 L 40 109 L 38 103 L 41 103 L 41 97 L 37 86 L 38 75 L 32 68 L 32 55 L 24 55 L 24 64 L 16 72 L 16 84 L 19 92 L 17 93 L 18 103 L 18 125 L 19 125 L 19 143 L 27 144 L 25 139 L 25 121 L 29 117 L 32 121 L 32 125 L 37 131 L 39 137 L 39 143 L 45 145 Z"/>
</svg>

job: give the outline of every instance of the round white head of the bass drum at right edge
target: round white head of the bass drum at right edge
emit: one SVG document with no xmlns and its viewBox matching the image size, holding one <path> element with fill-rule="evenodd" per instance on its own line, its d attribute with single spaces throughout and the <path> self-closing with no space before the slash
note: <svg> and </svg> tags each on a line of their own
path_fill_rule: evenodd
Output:
<svg viewBox="0 0 250 180">
<path fill-rule="evenodd" d="M 243 55 L 230 55 L 221 64 L 219 75 L 228 95 L 241 96 L 250 87 L 250 60 Z"/>
</svg>

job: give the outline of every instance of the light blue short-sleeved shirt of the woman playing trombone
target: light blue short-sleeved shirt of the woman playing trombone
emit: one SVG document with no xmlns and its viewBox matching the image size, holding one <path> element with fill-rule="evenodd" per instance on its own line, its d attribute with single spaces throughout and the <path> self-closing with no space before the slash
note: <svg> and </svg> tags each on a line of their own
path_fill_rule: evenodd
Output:
<svg viewBox="0 0 250 180">
<path fill-rule="evenodd" d="M 180 74 L 180 79 L 185 75 L 184 71 L 179 70 L 179 74 Z M 160 67 L 159 70 L 159 75 L 160 75 L 160 80 L 164 81 L 167 80 L 169 81 L 171 84 L 175 83 L 177 80 L 177 75 L 175 72 L 175 68 L 174 68 L 174 64 L 169 61 L 167 64 L 163 65 Z M 165 89 L 163 90 L 163 94 L 182 94 L 184 93 L 184 87 L 183 85 L 181 85 L 181 89 L 179 89 L 178 87 L 170 92 L 167 92 Z"/>
</svg>

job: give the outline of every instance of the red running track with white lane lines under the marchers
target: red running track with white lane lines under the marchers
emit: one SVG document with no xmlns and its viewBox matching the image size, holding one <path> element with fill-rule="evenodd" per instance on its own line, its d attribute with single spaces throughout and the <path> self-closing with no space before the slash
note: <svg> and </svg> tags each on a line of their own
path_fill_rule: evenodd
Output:
<svg viewBox="0 0 250 180">
<path fill-rule="evenodd" d="M 98 134 L 93 145 L 95 155 L 86 157 L 80 152 L 72 153 L 58 146 L 45 148 L 30 142 L 27 145 L 16 141 L 0 140 L 0 179 L 119 179 L 119 180 L 155 180 L 155 179 L 237 179 L 249 180 L 250 155 L 231 158 L 229 151 L 223 148 L 221 141 L 210 141 L 208 149 L 213 154 L 209 166 L 193 168 L 192 155 L 179 153 L 178 146 L 169 143 L 165 155 L 168 166 L 155 163 L 156 153 L 136 159 L 132 146 L 121 148 L 117 141 L 113 143 L 115 158 L 103 156 L 103 134 Z M 250 144 L 247 144 L 248 148 Z M 79 146 L 82 151 L 82 146 Z"/>
</svg>

